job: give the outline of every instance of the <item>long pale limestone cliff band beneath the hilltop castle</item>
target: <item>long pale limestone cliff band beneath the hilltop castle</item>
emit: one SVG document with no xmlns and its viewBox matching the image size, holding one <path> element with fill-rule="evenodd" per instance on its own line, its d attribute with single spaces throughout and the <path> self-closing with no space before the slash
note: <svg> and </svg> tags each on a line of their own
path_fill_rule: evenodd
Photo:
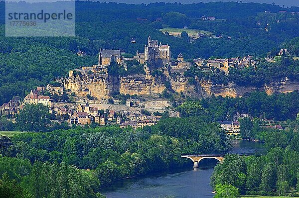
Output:
<svg viewBox="0 0 299 198">
<path fill-rule="evenodd" d="M 172 89 L 177 93 L 191 97 L 241 97 L 253 91 L 265 91 L 268 95 L 273 93 L 287 93 L 299 90 L 299 82 L 283 79 L 262 87 L 237 86 L 230 82 L 227 85 L 219 85 L 210 80 L 195 79 L 193 85 L 189 84 L 187 77 L 183 75 L 171 78 L 166 76 L 152 77 L 149 68 L 146 75 L 130 75 L 127 77 L 110 76 L 107 73 L 84 73 L 75 75 L 70 72 L 69 78 L 60 80 L 65 89 L 69 89 L 79 97 L 87 94 L 97 99 L 107 99 L 113 93 L 129 95 L 154 96 L 161 94 L 165 89 Z M 169 85 L 170 83 L 170 85 Z"/>
</svg>

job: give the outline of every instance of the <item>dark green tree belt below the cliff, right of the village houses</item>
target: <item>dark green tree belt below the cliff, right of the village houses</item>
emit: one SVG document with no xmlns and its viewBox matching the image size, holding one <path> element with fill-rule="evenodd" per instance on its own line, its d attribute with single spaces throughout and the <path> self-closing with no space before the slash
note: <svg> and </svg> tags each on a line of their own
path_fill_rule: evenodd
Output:
<svg viewBox="0 0 299 198">
<path fill-rule="evenodd" d="M 233 120 L 237 113 L 276 121 L 294 120 L 299 112 L 299 92 L 271 96 L 265 92 L 252 92 L 241 98 L 187 99 L 177 109 L 183 117 L 204 115 L 211 121 Z"/>
</svg>

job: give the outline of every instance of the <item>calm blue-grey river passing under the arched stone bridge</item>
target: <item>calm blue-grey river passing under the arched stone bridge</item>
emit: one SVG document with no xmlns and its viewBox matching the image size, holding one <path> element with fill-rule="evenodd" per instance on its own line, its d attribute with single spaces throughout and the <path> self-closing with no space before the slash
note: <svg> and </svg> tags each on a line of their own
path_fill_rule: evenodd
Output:
<svg viewBox="0 0 299 198">
<path fill-rule="evenodd" d="M 236 154 L 265 152 L 259 142 L 232 140 L 232 146 Z M 213 198 L 210 177 L 216 164 L 216 160 L 206 159 L 193 169 L 190 161 L 190 167 L 183 170 L 117 181 L 102 193 L 107 198 Z"/>
</svg>

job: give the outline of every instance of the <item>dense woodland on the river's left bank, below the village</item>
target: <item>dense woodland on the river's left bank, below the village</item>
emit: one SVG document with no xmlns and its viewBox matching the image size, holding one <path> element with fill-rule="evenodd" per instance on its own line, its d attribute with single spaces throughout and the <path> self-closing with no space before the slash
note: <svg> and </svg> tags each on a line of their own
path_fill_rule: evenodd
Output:
<svg viewBox="0 0 299 198">
<path fill-rule="evenodd" d="M 0 143 L 0 191 L 9 183 L 10 191 L 35 198 L 73 198 L 78 189 L 82 198 L 100 196 L 95 192 L 117 179 L 192 166 L 181 153 L 231 148 L 225 131 L 200 117 L 165 118 L 137 131 L 111 126 L 20 134 Z"/>
</svg>

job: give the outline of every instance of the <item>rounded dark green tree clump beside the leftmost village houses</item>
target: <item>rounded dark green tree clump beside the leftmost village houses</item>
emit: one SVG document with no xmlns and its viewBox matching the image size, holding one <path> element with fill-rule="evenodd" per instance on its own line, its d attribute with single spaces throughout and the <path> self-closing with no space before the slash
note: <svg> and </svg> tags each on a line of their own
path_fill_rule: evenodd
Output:
<svg viewBox="0 0 299 198">
<path fill-rule="evenodd" d="M 21 131 L 46 131 L 49 123 L 49 109 L 41 103 L 25 104 L 16 117 L 16 126 Z"/>
</svg>

